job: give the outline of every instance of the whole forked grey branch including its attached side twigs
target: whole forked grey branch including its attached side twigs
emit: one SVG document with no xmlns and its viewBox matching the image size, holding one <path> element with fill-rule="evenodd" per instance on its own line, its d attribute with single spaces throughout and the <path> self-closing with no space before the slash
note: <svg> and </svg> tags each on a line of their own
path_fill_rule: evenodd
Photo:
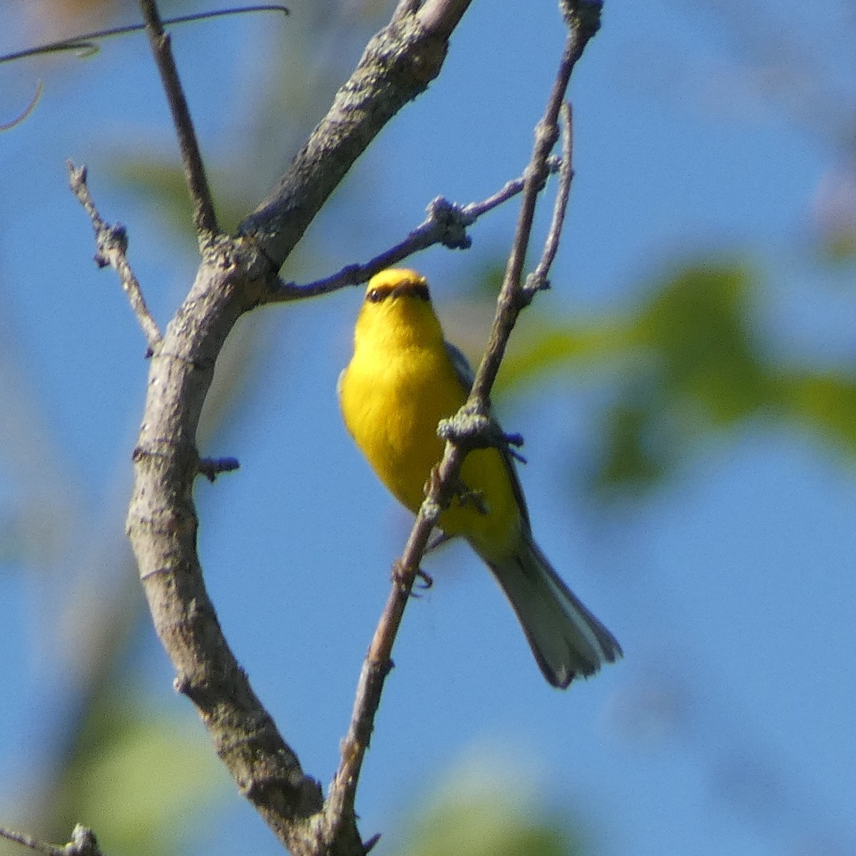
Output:
<svg viewBox="0 0 856 856">
<path fill-rule="evenodd" d="M 456 474 L 466 454 L 465 443 L 454 430 L 449 433 L 451 439 L 443 461 L 437 467 L 436 478 L 432 480 L 431 490 L 396 566 L 395 586 L 360 676 L 354 716 L 342 746 L 342 763 L 330 786 L 329 798 L 324 802 L 318 782 L 303 772 L 295 753 L 282 740 L 276 725 L 253 693 L 247 675 L 223 638 L 205 591 L 197 553 L 198 520 L 193 503 L 193 482 L 200 472 L 213 478 L 232 468 L 235 461 L 200 459 L 195 437 L 217 354 L 229 330 L 243 312 L 254 306 L 297 296 L 294 292 L 288 293 L 294 288 L 292 285 L 280 282 L 279 267 L 354 160 L 389 118 L 424 91 L 439 74 L 449 34 L 467 9 L 469 0 L 401 0 L 398 3 L 389 25 L 366 46 L 354 74 L 337 93 L 327 116 L 312 132 L 267 199 L 241 224 L 241 234 L 237 238 L 217 232 L 199 147 L 169 54 L 169 40 L 159 28 L 154 0 L 140 0 L 140 3 L 178 128 L 203 261 L 193 287 L 167 326 L 163 340 L 145 309 L 136 281 L 133 280 L 133 286 L 126 284 L 120 272 L 123 287 L 146 330 L 152 350 L 146 407 L 134 449 L 135 483 L 128 508 L 128 536 L 140 568 L 152 621 L 175 667 L 175 687 L 196 704 L 218 755 L 228 766 L 241 793 L 295 856 L 319 856 L 321 853 L 363 856 L 368 844 L 360 839 L 354 811 L 362 760 L 372 733 L 383 681 L 389 672 L 395 633 L 413 579 L 419 573 L 419 560 L 431 529 L 441 509 L 449 502 Z M 597 15 L 592 10 L 599 9 L 599 3 L 566 3 L 565 6 L 570 25 L 568 44 L 544 118 L 538 125 L 531 161 L 520 184 L 503 188 L 496 197 L 469 210 L 469 206 L 457 210 L 454 206 L 437 204 L 423 224 L 425 229 L 420 231 L 422 227 L 419 227 L 415 237 L 409 236 L 402 245 L 372 259 L 368 265 L 341 271 L 335 286 L 329 281 L 323 285 L 313 283 L 314 292 L 312 287 L 300 291 L 299 296 L 307 296 L 341 287 L 348 277 L 351 277 L 349 281 L 355 281 L 355 276 L 363 278 L 374 272 L 375 266 L 395 264 L 405 254 L 413 252 L 419 241 L 463 246 L 467 241 L 467 218 L 474 219 L 513 193 L 522 193 L 520 219 L 493 332 L 479 366 L 473 395 L 459 414 L 461 419 L 469 414 L 486 413 L 487 395 L 508 334 L 517 314 L 531 300 L 532 288 L 543 287 L 546 282 L 561 232 L 561 217 L 572 175 L 569 158 L 562 161 L 560 170 L 555 228 L 550 230 L 551 237 L 546 242 L 542 265 L 537 271 L 538 279 L 527 290 L 521 282 L 523 259 L 530 242 L 538 193 L 544 187 L 551 163 L 554 166 L 558 163 L 550 161 L 550 151 L 559 136 L 557 117 L 574 64 L 597 29 Z M 85 182 L 80 181 L 80 184 L 85 187 Z M 109 227 L 105 234 L 110 237 Z M 104 251 L 104 259 L 120 270 L 125 264 L 123 235 L 114 232 L 111 240 L 116 246 L 110 245 L 110 253 Z"/>
</svg>

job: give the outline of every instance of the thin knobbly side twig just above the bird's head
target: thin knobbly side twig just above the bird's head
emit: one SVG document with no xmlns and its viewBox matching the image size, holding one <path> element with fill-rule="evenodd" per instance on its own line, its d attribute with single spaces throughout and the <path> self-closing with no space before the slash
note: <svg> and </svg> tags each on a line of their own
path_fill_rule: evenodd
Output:
<svg viewBox="0 0 856 856">
<path fill-rule="evenodd" d="M 547 169 L 550 173 L 561 173 L 562 159 L 549 158 Z M 524 184 L 525 179 L 515 178 L 487 199 L 467 205 L 457 205 L 438 196 L 437 199 L 431 200 L 426 209 L 428 217 L 395 247 L 390 247 L 363 265 L 348 265 L 332 276 L 307 282 L 305 285 L 280 281 L 275 288 L 265 293 L 263 300 L 265 303 L 303 300 L 307 297 L 317 297 L 319 294 L 330 294 L 339 288 L 360 285 L 361 282 L 368 282 L 381 270 L 397 265 L 402 259 L 436 244 L 443 244 L 443 247 L 449 249 L 467 249 L 472 243 L 472 239 L 467 235 L 467 227 L 472 226 L 483 214 L 520 193 Z"/>
</svg>

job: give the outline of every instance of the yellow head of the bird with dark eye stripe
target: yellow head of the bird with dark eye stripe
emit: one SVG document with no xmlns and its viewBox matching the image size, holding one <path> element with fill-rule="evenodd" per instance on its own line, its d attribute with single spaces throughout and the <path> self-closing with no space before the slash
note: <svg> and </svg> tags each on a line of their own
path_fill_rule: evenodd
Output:
<svg viewBox="0 0 856 856">
<path fill-rule="evenodd" d="M 372 276 L 354 330 L 354 344 L 401 348 L 410 343 L 443 341 L 431 306 L 425 276 L 407 268 L 389 268 Z"/>
</svg>

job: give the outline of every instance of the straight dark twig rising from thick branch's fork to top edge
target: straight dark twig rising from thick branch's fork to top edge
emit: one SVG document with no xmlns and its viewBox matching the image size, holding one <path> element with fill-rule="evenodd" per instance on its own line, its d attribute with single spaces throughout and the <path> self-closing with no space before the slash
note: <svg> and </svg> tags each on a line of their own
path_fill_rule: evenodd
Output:
<svg viewBox="0 0 856 856">
<path fill-rule="evenodd" d="M 199 152 L 196 131 L 187 107 L 187 98 L 181 88 L 178 69 L 169 45 L 169 35 L 163 31 L 163 22 L 158 12 L 155 0 L 140 0 L 143 20 L 146 21 L 146 32 L 149 44 L 152 46 L 152 56 L 158 66 L 163 82 L 163 91 L 172 112 L 175 133 L 178 134 L 178 147 L 181 151 L 181 163 L 184 165 L 184 175 L 187 187 L 193 200 L 193 226 L 196 228 L 199 241 L 207 243 L 211 235 L 217 232 L 217 214 L 211 199 L 208 179 L 205 177 L 205 164 Z"/>
</svg>

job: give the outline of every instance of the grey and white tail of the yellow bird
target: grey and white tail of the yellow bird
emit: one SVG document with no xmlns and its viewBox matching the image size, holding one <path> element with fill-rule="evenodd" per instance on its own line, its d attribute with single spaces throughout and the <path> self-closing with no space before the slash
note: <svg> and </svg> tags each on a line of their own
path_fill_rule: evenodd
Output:
<svg viewBox="0 0 856 856">
<path fill-rule="evenodd" d="M 621 645 L 565 585 L 529 533 L 513 556 L 485 561 L 554 687 L 563 689 L 574 677 L 594 675 L 603 663 L 621 657 Z"/>
</svg>

